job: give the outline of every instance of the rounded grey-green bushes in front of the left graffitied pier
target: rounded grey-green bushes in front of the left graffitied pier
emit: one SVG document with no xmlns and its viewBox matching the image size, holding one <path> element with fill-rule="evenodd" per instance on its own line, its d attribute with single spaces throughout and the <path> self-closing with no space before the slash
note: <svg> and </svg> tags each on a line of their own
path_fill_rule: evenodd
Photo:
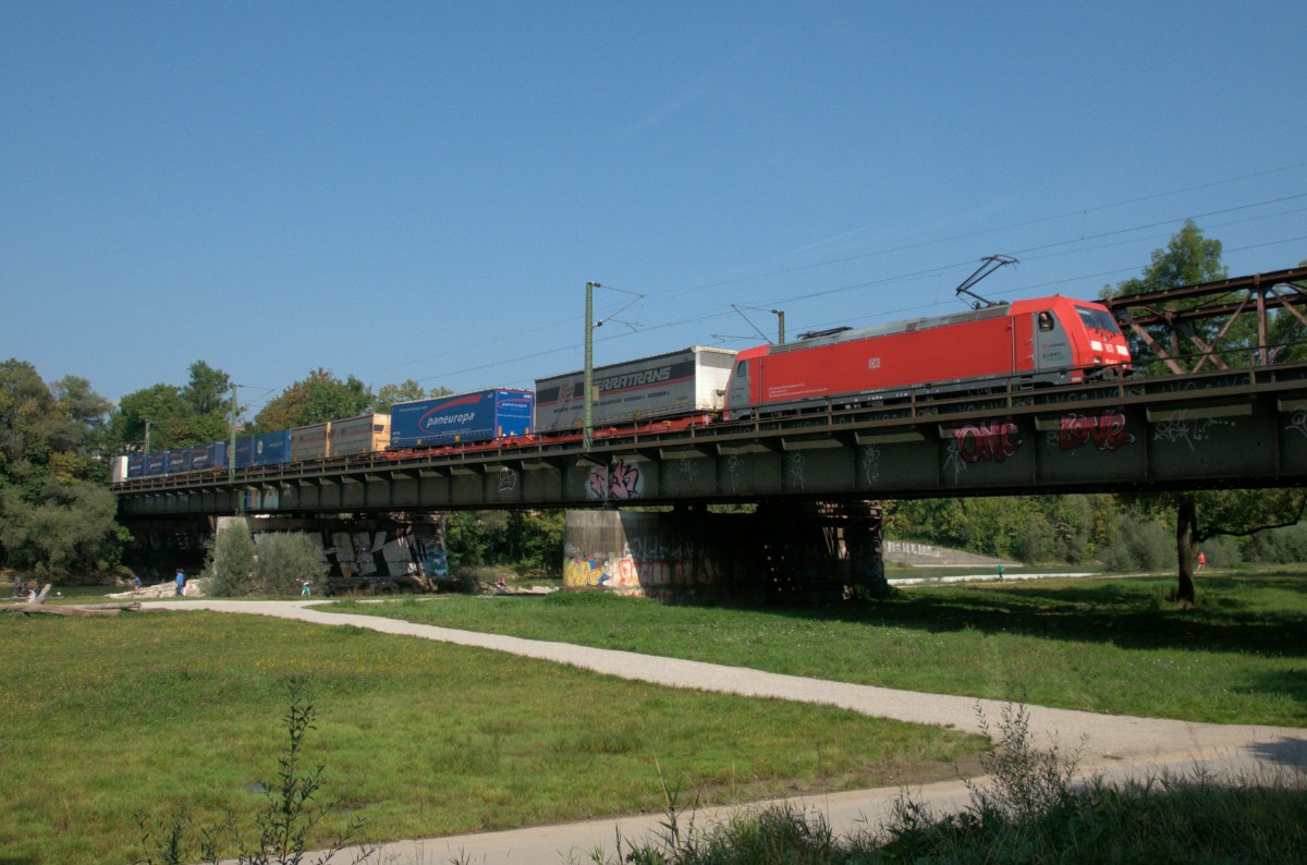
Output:
<svg viewBox="0 0 1307 865">
<path fill-rule="evenodd" d="M 305 580 L 327 572 L 322 550 L 302 532 L 254 537 L 243 519 L 226 521 L 209 544 L 204 576 L 209 595 L 295 595 Z"/>
</svg>

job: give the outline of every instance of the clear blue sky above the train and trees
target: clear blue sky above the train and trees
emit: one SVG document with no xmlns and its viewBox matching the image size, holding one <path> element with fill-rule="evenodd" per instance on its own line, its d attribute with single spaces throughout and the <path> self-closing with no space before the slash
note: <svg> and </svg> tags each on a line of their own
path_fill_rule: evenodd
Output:
<svg viewBox="0 0 1307 865">
<path fill-rule="evenodd" d="M 1302 3 L 0 4 L 0 358 L 523 387 L 1307 259 Z M 725 338 L 723 338 L 725 337 Z M 731 338 L 749 337 L 749 338 Z"/>
</svg>

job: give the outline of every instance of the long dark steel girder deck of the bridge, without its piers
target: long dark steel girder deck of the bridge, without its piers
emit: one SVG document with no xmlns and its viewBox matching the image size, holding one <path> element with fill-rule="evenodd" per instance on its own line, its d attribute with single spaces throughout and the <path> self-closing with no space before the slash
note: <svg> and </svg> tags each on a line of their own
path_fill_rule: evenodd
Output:
<svg viewBox="0 0 1307 865">
<path fill-rule="evenodd" d="M 676 434 L 367 455 L 115 486 L 124 516 L 613 507 L 1307 482 L 1307 363 L 1001 391 Z"/>
</svg>

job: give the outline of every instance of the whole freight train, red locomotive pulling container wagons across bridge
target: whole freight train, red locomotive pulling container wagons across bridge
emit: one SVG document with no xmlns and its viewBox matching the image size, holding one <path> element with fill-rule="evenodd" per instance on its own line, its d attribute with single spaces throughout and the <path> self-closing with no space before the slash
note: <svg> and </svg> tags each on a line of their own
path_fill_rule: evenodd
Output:
<svg viewBox="0 0 1307 865">
<path fill-rule="evenodd" d="M 596 438 L 827 408 L 1078 384 L 1127 375 L 1131 353 L 1107 307 L 1060 295 L 869 328 L 834 328 L 744 351 L 691 346 L 593 370 Z M 389 414 L 237 439 L 235 468 L 356 453 L 515 447 L 580 435 L 584 372 L 400 402 Z M 227 443 L 123 456 L 114 480 L 218 472 Z"/>
</svg>

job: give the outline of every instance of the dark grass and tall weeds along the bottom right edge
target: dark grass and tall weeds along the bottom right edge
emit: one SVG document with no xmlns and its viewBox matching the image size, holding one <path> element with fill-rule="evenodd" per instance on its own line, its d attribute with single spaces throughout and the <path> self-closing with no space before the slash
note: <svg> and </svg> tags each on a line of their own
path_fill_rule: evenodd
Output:
<svg viewBox="0 0 1307 865">
<path fill-rule="evenodd" d="M 979 711 L 979 710 L 978 710 Z M 988 720 L 980 716 L 988 730 Z M 1307 861 L 1304 776 L 1214 779 L 1201 771 L 1114 785 L 1076 780 L 1084 742 L 1067 754 L 1035 747 L 1025 707 L 1005 706 L 999 747 L 967 781 L 959 814 L 933 814 L 910 797 L 877 831 L 838 838 L 819 813 L 775 805 L 706 831 L 668 831 L 651 843 L 618 835 L 618 858 L 595 865 L 861 865 L 870 862 L 1287 862 Z M 665 789 L 665 784 L 664 784 Z M 670 802 L 672 800 L 669 800 Z M 625 844 L 625 852 L 623 852 Z"/>
</svg>

